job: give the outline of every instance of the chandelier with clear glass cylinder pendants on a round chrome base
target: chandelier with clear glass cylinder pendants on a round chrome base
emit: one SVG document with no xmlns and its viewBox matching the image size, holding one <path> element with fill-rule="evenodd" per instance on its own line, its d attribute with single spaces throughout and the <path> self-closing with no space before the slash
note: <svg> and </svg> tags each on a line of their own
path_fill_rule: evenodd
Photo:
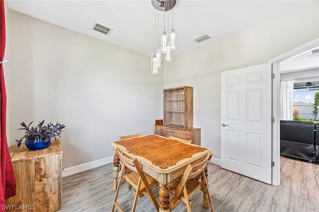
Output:
<svg viewBox="0 0 319 212">
<path fill-rule="evenodd" d="M 155 47 L 151 54 L 151 73 L 158 74 L 161 66 L 161 54 L 163 54 L 165 61 L 171 61 L 171 51 L 176 49 L 176 35 L 173 28 L 173 10 L 176 0 L 151 0 L 155 8 Z M 171 10 L 171 21 L 169 21 L 169 10 Z M 159 13 L 163 12 L 163 31 L 159 31 Z M 167 20 L 165 21 L 165 16 Z M 170 23 L 170 26 L 169 26 Z M 171 27 L 171 28 L 170 28 Z"/>
</svg>

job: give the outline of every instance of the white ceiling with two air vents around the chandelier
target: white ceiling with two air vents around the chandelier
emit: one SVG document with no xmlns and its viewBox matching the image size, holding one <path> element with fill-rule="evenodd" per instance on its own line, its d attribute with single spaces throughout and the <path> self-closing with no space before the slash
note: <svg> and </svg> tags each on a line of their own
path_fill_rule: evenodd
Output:
<svg viewBox="0 0 319 212">
<path fill-rule="evenodd" d="M 172 55 L 181 55 L 265 23 L 290 3 L 287 0 L 176 0 L 173 26 L 177 47 Z M 155 8 L 151 0 L 7 0 L 7 4 L 12 10 L 147 56 L 155 47 Z M 159 17 L 161 32 L 163 12 Z M 105 35 L 92 30 L 96 21 L 113 28 L 112 32 Z M 205 34 L 212 38 L 201 43 L 194 41 Z M 289 69 L 288 62 L 286 65 Z"/>
</svg>

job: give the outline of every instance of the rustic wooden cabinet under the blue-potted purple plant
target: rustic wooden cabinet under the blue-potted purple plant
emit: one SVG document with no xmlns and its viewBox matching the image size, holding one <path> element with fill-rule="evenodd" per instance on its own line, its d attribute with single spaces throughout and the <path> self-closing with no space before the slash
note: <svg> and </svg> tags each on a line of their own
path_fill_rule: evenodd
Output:
<svg viewBox="0 0 319 212">
<path fill-rule="evenodd" d="M 5 205 L 16 211 L 55 212 L 62 204 L 62 147 L 53 140 L 50 147 L 30 151 L 24 144 L 9 148 L 16 181 L 16 195 Z M 13 208 L 12 208 L 13 209 Z M 7 211 L 15 211 L 7 210 Z"/>
</svg>

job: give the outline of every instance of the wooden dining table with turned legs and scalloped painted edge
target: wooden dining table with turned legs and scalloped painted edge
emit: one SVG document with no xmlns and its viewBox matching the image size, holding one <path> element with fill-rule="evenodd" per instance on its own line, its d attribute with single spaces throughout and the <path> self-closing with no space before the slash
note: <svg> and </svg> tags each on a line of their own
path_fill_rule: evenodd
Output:
<svg viewBox="0 0 319 212">
<path fill-rule="evenodd" d="M 170 211 L 169 189 L 166 184 L 182 175 L 188 164 L 200 162 L 210 152 L 206 147 L 154 134 L 114 141 L 111 145 L 114 151 L 120 148 L 127 156 L 137 158 L 143 171 L 160 183 L 160 212 Z M 113 164 L 113 191 L 115 191 L 120 171 L 120 159 L 117 154 L 114 155 Z M 203 193 L 204 207 L 208 208 L 207 192 Z"/>
</svg>

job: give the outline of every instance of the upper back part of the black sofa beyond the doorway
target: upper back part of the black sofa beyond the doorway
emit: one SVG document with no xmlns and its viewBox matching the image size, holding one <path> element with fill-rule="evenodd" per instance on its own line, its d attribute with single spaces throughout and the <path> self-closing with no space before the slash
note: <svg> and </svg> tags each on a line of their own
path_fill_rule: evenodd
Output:
<svg viewBox="0 0 319 212">
<path fill-rule="evenodd" d="M 280 121 L 280 140 L 314 145 L 315 123 L 312 121 Z"/>
</svg>

